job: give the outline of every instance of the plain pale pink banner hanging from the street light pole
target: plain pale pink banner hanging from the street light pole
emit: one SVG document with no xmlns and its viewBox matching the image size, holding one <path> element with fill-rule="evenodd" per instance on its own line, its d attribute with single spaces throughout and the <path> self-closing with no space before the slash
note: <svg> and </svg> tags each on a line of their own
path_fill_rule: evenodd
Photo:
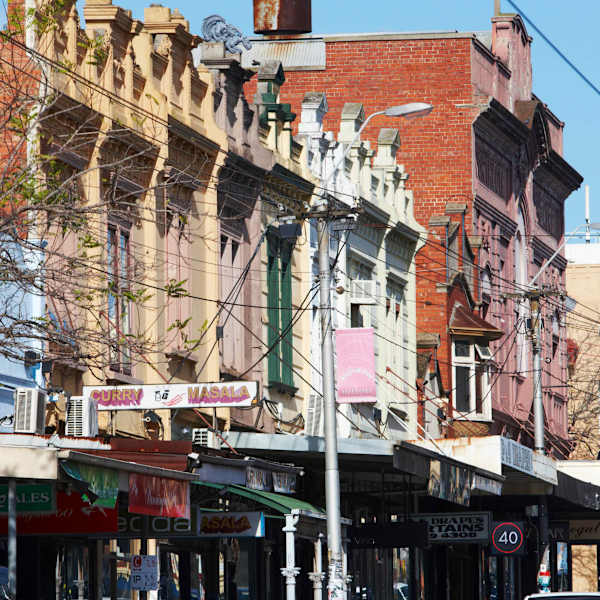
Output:
<svg viewBox="0 0 600 600">
<path fill-rule="evenodd" d="M 338 403 L 377 401 L 374 335 L 372 327 L 338 329 L 335 332 Z"/>
</svg>

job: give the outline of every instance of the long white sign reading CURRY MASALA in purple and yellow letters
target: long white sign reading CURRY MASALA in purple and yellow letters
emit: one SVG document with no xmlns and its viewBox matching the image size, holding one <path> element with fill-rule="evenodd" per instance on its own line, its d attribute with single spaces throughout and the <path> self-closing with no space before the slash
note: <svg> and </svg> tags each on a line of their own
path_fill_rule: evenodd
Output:
<svg viewBox="0 0 600 600">
<path fill-rule="evenodd" d="M 258 401 L 258 382 L 84 386 L 83 395 L 94 400 L 98 410 L 239 407 Z"/>
</svg>

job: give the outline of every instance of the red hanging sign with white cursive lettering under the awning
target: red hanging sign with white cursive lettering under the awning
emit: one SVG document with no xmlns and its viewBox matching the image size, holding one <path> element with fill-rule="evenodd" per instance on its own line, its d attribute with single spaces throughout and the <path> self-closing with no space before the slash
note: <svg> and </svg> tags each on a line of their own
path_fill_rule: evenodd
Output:
<svg viewBox="0 0 600 600">
<path fill-rule="evenodd" d="M 129 512 L 189 519 L 189 481 L 130 473 Z"/>
</svg>

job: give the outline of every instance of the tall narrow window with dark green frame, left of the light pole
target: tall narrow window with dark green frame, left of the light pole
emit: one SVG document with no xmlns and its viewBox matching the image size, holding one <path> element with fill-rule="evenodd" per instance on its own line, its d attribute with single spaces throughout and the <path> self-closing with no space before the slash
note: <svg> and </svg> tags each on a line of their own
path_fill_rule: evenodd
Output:
<svg viewBox="0 0 600 600">
<path fill-rule="evenodd" d="M 293 241 L 282 239 L 275 230 L 267 235 L 267 340 L 269 385 L 294 388 L 292 332 Z"/>
</svg>

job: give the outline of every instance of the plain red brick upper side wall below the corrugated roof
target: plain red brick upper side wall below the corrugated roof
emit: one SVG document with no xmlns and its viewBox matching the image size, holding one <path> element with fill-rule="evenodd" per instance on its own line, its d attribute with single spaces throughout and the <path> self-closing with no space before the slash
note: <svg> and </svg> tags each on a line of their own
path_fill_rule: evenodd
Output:
<svg viewBox="0 0 600 600">
<path fill-rule="evenodd" d="M 366 115 L 405 102 L 433 104 L 424 119 L 377 117 L 363 135 L 376 147 L 380 128 L 400 129 L 398 162 L 410 175 L 416 217 L 426 225 L 429 215 L 443 214 L 449 199 L 464 202 L 472 192 L 474 112 L 456 106 L 473 103 L 471 44 L 466 38 L 327 42 L 326 70 L 287 71 L 281 102 L 300 115 L 306 92 L 325 92 L 324 127 L 336 134 L 346 102 L 362 102 Z M 255 87 L 254 80 L 247 84 L 248 98 Z"/>
</svg>

